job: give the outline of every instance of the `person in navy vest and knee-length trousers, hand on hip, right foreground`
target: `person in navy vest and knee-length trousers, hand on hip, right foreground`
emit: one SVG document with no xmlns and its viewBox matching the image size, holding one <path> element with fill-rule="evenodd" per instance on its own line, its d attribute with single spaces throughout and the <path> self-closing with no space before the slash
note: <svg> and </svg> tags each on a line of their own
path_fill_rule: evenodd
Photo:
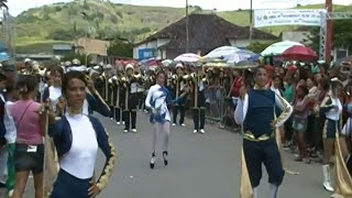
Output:
<svg viewBox="0 0 352 198">
<path fill-rule="evenodd" d="M 254 81 L 253 89 L 241 88 L 234 120 L 238 124 L 243 124 L 243 154 L 253 198 L 258 197 L 262 164 L 268 174 L 270 197 L 276 198 L 285 172 L 274 131 L 290 117 L 293 108 L 280 96 L 265 88 L 267 72 L 264 67 L 260 66 L 254 73 Z M 275 108 L 282 110 L 277 119 Z"/>
</svg>

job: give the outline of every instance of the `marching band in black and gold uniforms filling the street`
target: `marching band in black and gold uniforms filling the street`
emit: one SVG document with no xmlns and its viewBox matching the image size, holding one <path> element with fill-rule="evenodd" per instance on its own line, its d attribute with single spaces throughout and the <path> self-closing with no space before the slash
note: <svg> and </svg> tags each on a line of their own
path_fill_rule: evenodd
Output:
<svg viewBox="0 0 352 198">
<path fill-rule="evenodd" d="M 28 66 L 29 64 L 31 66 Z M 47 99 L 48 87 L 53 84 L 51 69 L 30 59 L 25 61 L 25 65 L 18 73 L 36 75 L 40 80 L 38 100 Z M 106 106 L 106 110 L 109 109 L 109 113 L 103 114 L 109 114 L 117 125 L 124 125 L 124 133 L 130 131 L 136 133 L 136 111 L 147 112 L 144 107 L 146 94 L 150 87 L 155 84 L 156 73 L 163 70 L 167 77 L 165 87 L 170 91 L 173 98 L 186 96 L 172 105 L 173 125 L 185 127 L 185 113 L 186 110 L 190 110 L 194 119 L 194 133 L 205 133 L 205 89 L 209 85 L 209 76 L 201 66 L 178 63 L 175 68 L 151 67 L 141 72 L 132 64 L 125 65 L 124 68 L 114 68 L 112 65 L 102 63 L 86 67 L 81 66 L 78 59 L 73 59 L 72 62 L 62 62 L 58 67 L 63 68 L 64 73 L 84 72 L 87 80 L 94 82 L 97 95 L 99 95 L 97 99 Z M 211 72 L 211 69 L 209 70 Z M 94 113 L 91 108 L 88 111 L 89 114 Z M 177 117 L 179 117 L 178 122 Z"/>
</svg>

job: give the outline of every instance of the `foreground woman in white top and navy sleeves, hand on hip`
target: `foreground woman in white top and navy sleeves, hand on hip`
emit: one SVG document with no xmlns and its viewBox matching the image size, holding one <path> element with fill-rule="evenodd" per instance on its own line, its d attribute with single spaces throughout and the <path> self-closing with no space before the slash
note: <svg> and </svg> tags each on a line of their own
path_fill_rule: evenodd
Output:
<svg viewBox="0 0 352 198">
<path fill-rule="evenodd" d="M 98 119 L 84 113 L 87 81 L 80 72 L 63 78 L 67 112 L 56 121 L 48 134 L 59 158 L 59 173 L 51 198 L 96 197 L 108 183 L 114 167 L 116 153 L 109 135 Z M 106 155 L 102 174 L 95 178 L 98 148 Z"/>
</svg>

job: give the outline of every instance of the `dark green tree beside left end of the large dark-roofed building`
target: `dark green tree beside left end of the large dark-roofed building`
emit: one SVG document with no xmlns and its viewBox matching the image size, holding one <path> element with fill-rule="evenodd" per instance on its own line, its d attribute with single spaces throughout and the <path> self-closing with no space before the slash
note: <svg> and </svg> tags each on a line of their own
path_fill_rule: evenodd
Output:
<svg viewBox="0 0 352 198">
<path fill-rule="evenodd" d="M 133 57 L 133 44 L 116 40 L 108 48 L 109 56 Z"/>
</svg>

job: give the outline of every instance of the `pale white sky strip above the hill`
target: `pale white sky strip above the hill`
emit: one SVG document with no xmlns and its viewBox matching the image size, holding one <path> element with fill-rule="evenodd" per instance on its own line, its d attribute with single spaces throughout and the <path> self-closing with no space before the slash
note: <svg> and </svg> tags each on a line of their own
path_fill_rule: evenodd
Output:
<svg viewBox="0 0 352 198">
<path fill-rule="evenodd" d="M 43 4 L 51 4 L 54 2 L 68 2 L 72 0 L 8 0 L 10 13 L 18 15 L 19 13 Z M 110 0 L 119 3 L 131 3 L 141 6 L 163 6 L 163 7 L 184 7 L 185 0 Z M 204 9 L 218 9 L 218 10 L 237 10 L 250 8 L 250 0 L 188 0 L 189 4 L 200 6 Z M 324 0 L 253 0 L 254 9 L 278 9 L 292 8 L 297 3 L 312 4 L 323 3 Z M 350 4 L 351 0 L 333 0 L 337 4 Z"/>
</svg>

